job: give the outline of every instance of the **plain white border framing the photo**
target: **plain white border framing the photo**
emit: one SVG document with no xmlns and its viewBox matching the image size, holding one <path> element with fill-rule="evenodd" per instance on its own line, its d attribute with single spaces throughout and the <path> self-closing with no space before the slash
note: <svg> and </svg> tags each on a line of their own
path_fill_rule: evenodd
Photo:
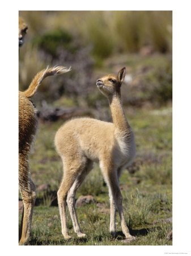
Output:
<svg viewBox="0 0 191 256">
<path fill-rule="evenodd" d="M 173 246 L 18 246 L 18 10 L 173 11 Z M 6 1 L 1 7 L 2 255 L 190 255 L 190 24 L 182 1 Z"/>
</svg>

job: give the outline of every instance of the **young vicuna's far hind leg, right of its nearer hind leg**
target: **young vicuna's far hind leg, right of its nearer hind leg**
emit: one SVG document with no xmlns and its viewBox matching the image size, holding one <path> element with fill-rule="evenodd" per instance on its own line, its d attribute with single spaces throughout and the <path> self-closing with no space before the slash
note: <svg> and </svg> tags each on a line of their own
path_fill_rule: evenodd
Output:
<svg viewBox="0 0 191 256">
<path fill-rule="evenodd" d="M 67 195 L 67 206 L 69 207 L 71 220 L 73 221 L 74 231 L 77 233 L 78 237 L 86 237 L 86 234 L 82 233 L 78 223 L 77 212 L 75 210 L 75 193 L 79 186 L 82 184 L 86 175 L 91 171 L 92 162 L 91 160 L 87 160 L 87 164 L 84 167 L 84 170 L 77 176 L 75 179 L 73 186 L 70 188 L 70 191 Z"/>
</svg>

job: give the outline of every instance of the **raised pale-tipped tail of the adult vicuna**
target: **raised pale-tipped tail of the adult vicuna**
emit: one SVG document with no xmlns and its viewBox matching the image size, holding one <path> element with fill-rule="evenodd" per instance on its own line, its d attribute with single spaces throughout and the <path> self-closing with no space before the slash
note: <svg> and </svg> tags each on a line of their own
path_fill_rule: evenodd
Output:
<svg viewBox="0 0 191 256">
<path fill-rule="evenodd" d="M 71 70 L 70 68 L 65 68 L 65 67 L 53 67 L 53 68 L 46 68 L 37 73 L 37 75 L 33 78 L 31 84 L 29 85 L 28 89 L 23 92 L 24 95 L 27 98 L 31 98 L 35 93 L 37 88 L 39 87 L 41 81 L 45 79 L 46 76 L 54 76 L 54 75 L 61 75 L 63 73 L 69 72 Z"/>
</svg>

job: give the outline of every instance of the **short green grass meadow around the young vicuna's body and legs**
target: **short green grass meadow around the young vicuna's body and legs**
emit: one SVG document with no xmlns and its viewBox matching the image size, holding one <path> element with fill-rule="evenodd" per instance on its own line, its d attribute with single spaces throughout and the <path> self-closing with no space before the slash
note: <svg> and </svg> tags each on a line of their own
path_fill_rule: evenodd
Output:
<svg viewBox="0 0 191 256">
<path fill-rule="evenodd" d="M 49 183 L 50 188 L 43 194 L 37 191 L 38 206 L 34 208 L 29 245 L 172 245 L 167 240 L 172 223 L 165 221 L 172 217 L 172 108 L 133 111 L 127 108 L 125 112 L 135 133 L 137 156 L 131 172 L 122 173 L 120 187 L 126 222 L 137 239 L 125 242 L 118 213 L 117 237 L 112 238 L 109 233 L 108 189 L 95 164 L 77 191 L 77 198 L 79 195 L 95 198 L 95 203 L 77 208 L 80 227 L 87 238 L 76 236 L 67 209 L 67 224 L 73 239 L 63 240 L 58 207 L 50 206 L 62 179 L 62 163 L 53 144 L 54 134 L 62 124 L 60 120 L 39 124 L 30 156 L 32 180 L 37 186 Z M 103 205 L 104 212 L 97 203 Z"/>
</svg>

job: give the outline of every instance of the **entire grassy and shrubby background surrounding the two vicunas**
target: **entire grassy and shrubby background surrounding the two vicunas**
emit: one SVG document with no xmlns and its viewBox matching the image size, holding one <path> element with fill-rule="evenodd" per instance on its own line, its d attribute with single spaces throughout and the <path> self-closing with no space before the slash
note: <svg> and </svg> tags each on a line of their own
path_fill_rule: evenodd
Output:
<svg viewBox="0 0 191 256">
<path fill-rule="evenodd" d="M 20 90 L 47 65 L 72 68 L 45 79 L 32 98 L 40 122 L 30 156 L 37 186 L 30 244 L 121 245 L 109 235 L 108 189 L 97 164 L 77 192 L 77 197 L 93 195 L 96 202 L 77 209 L 88 240 L 63 241 L 58 207 L 53 207 L 63 175 L 54 135 L 72 117 L 112 121 L 96 80 L 126 67 L 121 95 L 137 155 L 120 188 L 126 220 L 137 236 L 131 245 L 171 245 L 172 223 L 163 221 L 172 217 L 172 11 L 20 11 L 19 16 L 28 24 L 19 53 Z M 48 189 L 40 191 L 42 184 Z M 68 223 L 72 233 L 69 213 Z M 121 230 L 118 215 L 116 225 Z"/>
</svg>

